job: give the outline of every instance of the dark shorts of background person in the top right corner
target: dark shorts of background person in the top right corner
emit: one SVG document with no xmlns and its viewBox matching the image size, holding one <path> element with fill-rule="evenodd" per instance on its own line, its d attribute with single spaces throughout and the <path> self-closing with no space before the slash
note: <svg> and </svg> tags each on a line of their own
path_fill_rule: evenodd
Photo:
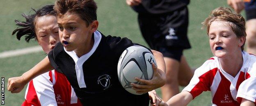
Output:
<svg viewBox="0 0 256 106">
<path fill-rule="evenodd" d="M 245 2 L 246 20 L 256 18 L 256 0 Z"/>
</svg>

